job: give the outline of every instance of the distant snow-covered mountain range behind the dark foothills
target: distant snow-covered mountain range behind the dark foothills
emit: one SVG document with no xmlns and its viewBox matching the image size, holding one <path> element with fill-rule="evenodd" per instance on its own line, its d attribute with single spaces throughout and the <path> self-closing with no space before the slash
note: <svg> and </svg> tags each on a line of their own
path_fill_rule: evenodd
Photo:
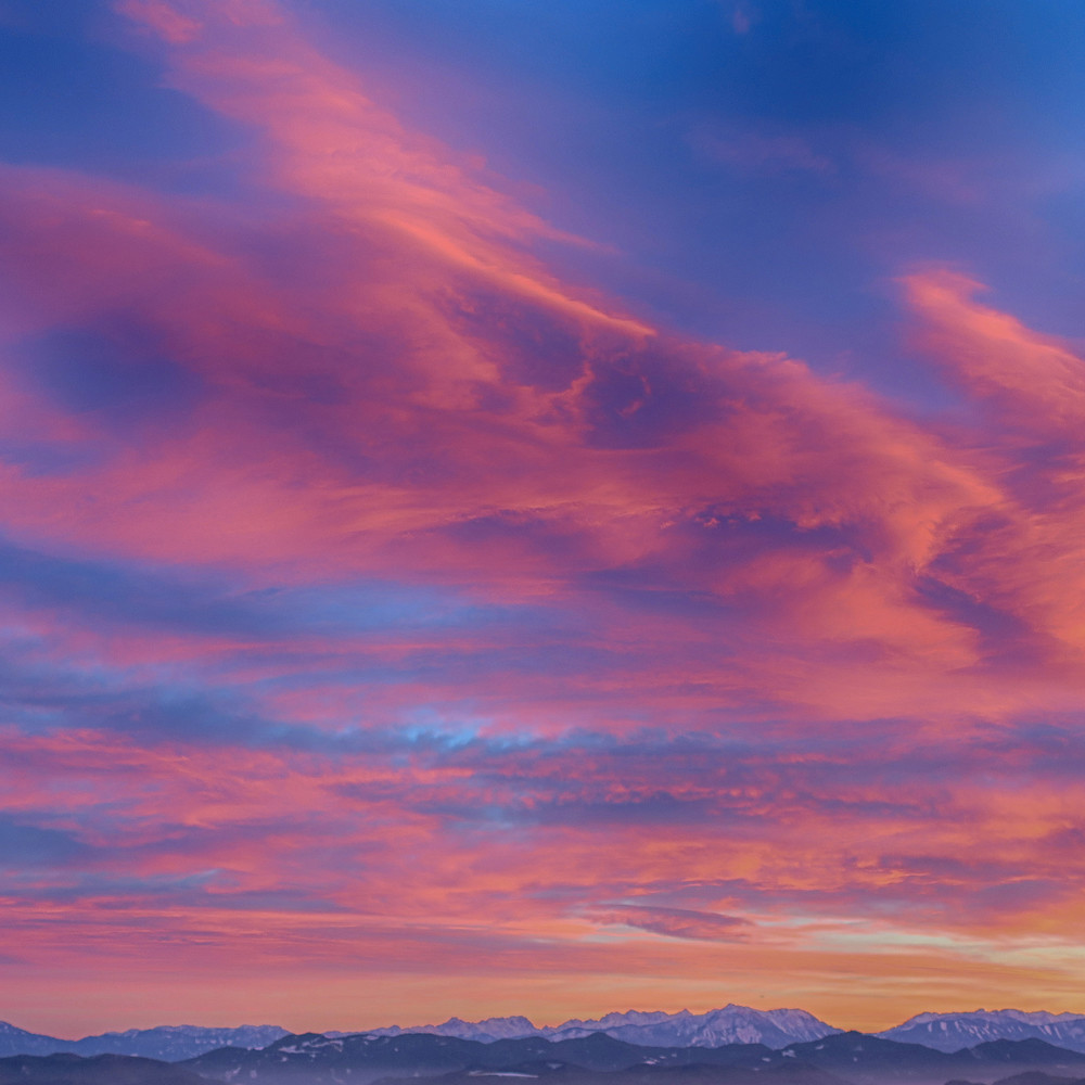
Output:
<svg viewBox="0 0 1085 1085">
<path fill-rule="evenodd" d="M 450 1018 L 443 1024 L 391 1025 L 363 1034 L 328 1032 L 320 1035 L 334 1041 L 355 1035 L 394 1038 L 429 1034 L 495 1044 L 527 1038 L 565 1042 L 603 1033 L 612 1039 L 640 1047 L 722 1048 L 736 1044 L 760 1044 L 778 1051 L 792 1044 L 824 1039 L 840 1032 L 805 1010 L 757 1010 L 729 1004 L 706 1013 L 629 1010 L 589 1020 L 576 1018 L 558 1025 L 536 1026 L 525 1017 L 487 1018 L 473 1022 Z M 241 1025 L 235 1029 L 159 1025 L 107 1032 L 81 1039 L 60 1039 L 0 1022 L 0 1057 L 110 1054 L 180 1062 L 222 1047 L 265 1048 L 288 1035 L 288 1031 L 278 1025 Z M 1085 1014 L 1012 1009 L 920 1013 L 876 1035 L 881 1039 L 918 1044 L 942 1052 L 959 1051 L 990 1041 L 1036 1039 L 1085 1054 Z"/>
</svg>

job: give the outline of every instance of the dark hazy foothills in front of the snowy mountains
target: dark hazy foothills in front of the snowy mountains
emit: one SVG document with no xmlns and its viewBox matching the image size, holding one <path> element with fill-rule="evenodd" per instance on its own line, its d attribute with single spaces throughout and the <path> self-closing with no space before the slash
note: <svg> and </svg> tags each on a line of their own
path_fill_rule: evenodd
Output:
<svg viewBox="0 0 1085 1085">
<path fill-rule="evenodd" d="M 857 1032 L 764 1044 L 648 1047 L 602 1032 L 483 1043 L 433 1033 L 285 1035 L 180 1062 L 67 1052 L 0 1058 L 0 1085 L 1085 1085 L 1085 1055 L 1042 1039 L 947 1052 Z M 482 1078 L 480 1081 L 478 1078 Z"/>
</svg>

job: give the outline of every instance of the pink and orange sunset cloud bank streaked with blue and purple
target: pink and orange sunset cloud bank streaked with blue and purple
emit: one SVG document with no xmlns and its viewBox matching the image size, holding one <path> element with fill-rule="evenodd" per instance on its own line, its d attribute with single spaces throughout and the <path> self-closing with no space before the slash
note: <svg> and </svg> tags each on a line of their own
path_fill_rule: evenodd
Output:
<svg viewBox="0 0 1085 1085">
<path fill-rule="evenodd" d="M 911 269 L 929 417 L 652 327 L 289 11 L 118 10 L 248 142 L 0 173 L 21 1020 L 1080 1003 L 1075 348 Z"/>
</svg>

